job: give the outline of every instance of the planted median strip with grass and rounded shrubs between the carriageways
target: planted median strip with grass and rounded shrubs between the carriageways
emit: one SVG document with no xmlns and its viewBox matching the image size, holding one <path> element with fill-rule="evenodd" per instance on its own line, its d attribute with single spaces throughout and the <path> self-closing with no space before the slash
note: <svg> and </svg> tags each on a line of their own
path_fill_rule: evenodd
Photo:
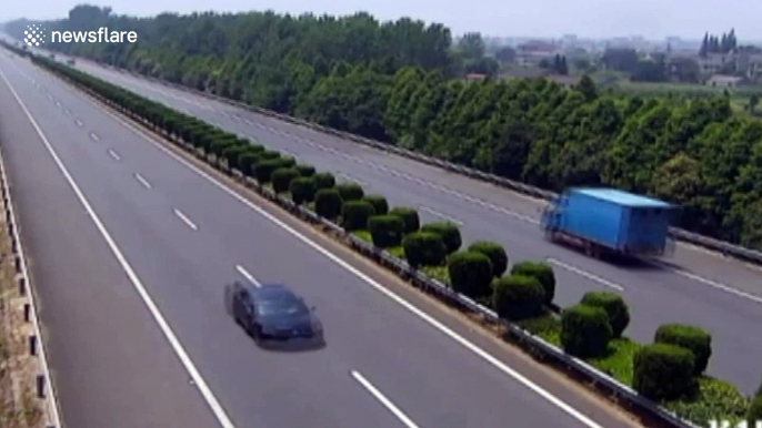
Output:
<svg viewBox="0 0 762 428">
<path fill-rule="evenodd" d="M 464 246 L 455 224 L 421 224 L 415 210 L 390 206 L 383 195 L 367 194 L 359 184 L 337 184 L 332 174 L 260 142 L 48 59 L 33 61 L 131 112 L 200 159 L 313 210 L 683 418 L 706 426 L 709 419 L 759 417 L 759 393 L 756 398 L 744 397 L 734 386 L 704 375 L 712 337 L 700 328 L 663 325 L 654 332 L 653 343 L 635 343 L 625 335 L 630 314 L 618 294 L 588 293 L 579 304 L 559 309 L 552 304 L 563 284 L 557 284 L 545 263 L 511 261 L 508 252 L 492 242 Z"/>
</svg>

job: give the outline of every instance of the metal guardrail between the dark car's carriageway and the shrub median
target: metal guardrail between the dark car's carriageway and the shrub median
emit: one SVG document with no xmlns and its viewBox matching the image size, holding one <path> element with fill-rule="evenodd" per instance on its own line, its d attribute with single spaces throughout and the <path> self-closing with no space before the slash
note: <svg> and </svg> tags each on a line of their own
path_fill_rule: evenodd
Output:
<svg viewBox="0 0 762 428">
<path fill-rule="evenodd" d="M 68 78 L 64 78 L 66 80 L 70 81 Z M 77 84 L 76 82 L 72 82 L 73 84 L 78 85 L 79 88 L 82 88 L 81 85 Z M 102 95 L 91 91 L 88 88 L 82 88 L 86 92 L 89 94 L 98 98 L 101 101 L 104 101 L 107 104 L 111 105 L 112 108 L 121 111 L 122 113 L 129 115 L 132 119 L 137 119 L 140 123 L 144 124 L 148 128 L 151 128 L 153 130 L 154 126 L 152 126 L 147 120 L 139 116 L 134 112 L 127 111 L 122 109 L 121 106 L 114 104 L 113 102 L 107 100 Z M 167 135 L 167 133 L 163 133 Z M 564 353 L 562 349 L 559 347 L 543 340 L 542 338 L 534 336 L 530 334 L 529 332 L 522 329 L 521 327 L 508 323 L 504 319 L 500 319 L 498 314 L 492 310 L 491 308 L 488 308 L 473 299 L 469 298 L 468 296 L 464 296 L 460 293 L 457 293 L 452 291 L 450 287 L 445 286 L 444 284 L 440 283 L 439 281 L 435 281 L 422 272 L 411 267 L 404 259 L 401 259 L 399 257 L 395 257 L 391 255 L 389 252 L 378 248 L 371 243 L 365 242 L 364 240 L 361 240 L 360 237 L 345 232 L 341 226 L 338 224 L 323 218 L 319 216 L 317 213 L 314 213 L 311 210 L 308 210 L 307 207 L 302 205 L 297 205 L 292 201 L 287 200 L 279 194 L 277 194 L 274 191 L 259 185 L 255 181 L 244 176 L 240 171 L 235 169 L 228 169 L 227 165 L 224 165 L 223 162 L 218 162 L 213 160 L 210 156 L 205 155 L 200 155 L 200 153 L 189 143 L 183 142 L 179 136 L 176 135 L 167 135 L 169 140 L 178 143 L 181 147 L 183 147 L 186 151 L 189 153 L 193 154 L 197 157 L 201 157 L 209 162 L 213 167 L 220 170 L 221 172 L 225 174 L 230 174 L 234 179 L 237 179 L 239 182 L 241 182 L 243 185 L 255 191 L 260 195 L 264 196 L 269 201 L 272 201 L 273 203 L 278 204 L 279 206 L 285 208 L 287 211 L 295 214 L 297 216 L 304 218 L 309 221 L 312 224 L 320 225 L 324 227 L 329 233 L 333 234 L 338 238 L 342 240 L 345 242 L 349 246 L 351 246 L 353 249 L 359 252 L 360 254 L 364 255 L 368 258 L 373 259 L 374 262 L 379 263 L 382 266 L 385 266 L 390 271 L 394 272 L 398 276 L 400 276 L 404 281 L 410 281 L 414 286 L 422 288 L 429 293 L 435 294 L 440 298 L 455 305 L 460 306 L 473 314 L 478 314 L 482 316 L 483 320 L 485 320 L 489 324 L 492 325 L 500 325 L 503 326 L 507 330 L 508 336 L 513 338 L 517 343 L 524 347 L 529 347 L 530 349 L 533 350 L 533 353 L 542 355 L 544 358 L 553 360 L 555 364 L 561 365 L 562 367 L 575 373 L 576 375 L 581 375 L 584 378 L 589 379 L 594 387 L 605 390 L 612 396 L 616 397 L 620 400 L 625 400 L 629 405 L 632 407 L 635 407 L 642 411 L 646 411 L 649 415 L 652 417 L 658 418 L 660 421 L 668 424 L 671 427 L 675 428 L 699 428 L 696 425 L 693 425 L 690 421 L 686 421 L 684 419 L 681 419 L 676 415 L 670 412 L 665 408 L 659 406 L 656 402 L 640 396 L 634 389 L 631 387 L 621 384 L 613 377 L 606 375 L 605 373 L 602 373 L 601 370 L 596 369 L 595 367 L 589 365 L 588 363 L 575 358 L 573 356 L 568 355 Z"/>
</svg>

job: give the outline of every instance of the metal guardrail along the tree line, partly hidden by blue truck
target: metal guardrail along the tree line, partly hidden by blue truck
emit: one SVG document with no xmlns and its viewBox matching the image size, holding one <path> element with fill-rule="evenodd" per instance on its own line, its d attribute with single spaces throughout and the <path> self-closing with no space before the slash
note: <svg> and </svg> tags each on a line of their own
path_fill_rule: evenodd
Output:
<svg viewBox="0 0 762 428">
<path fill-rule="evenodd" d="M 99 64 L 99 65 L 106 67 L 103 64 Z M 545 190 L 542 190 L 540 187 L 535 187 L 535 186 L 532 186 L 529 184 L 515 182 L 515 181 L 512 181 L 512 180 L 509 180 L 505 177 L 501 177 L 501 176 L 498 176 L 494 174 L 485 173 L 485 172 L 474 170 L 474 169 L 469 167 L 469 166 L 458 165 L 458 164 L 454 164 L 454 163 L 451 163 L 448 161 L 442 161 L 440 159 L 428 156 L 428 155 L 417 153 L 417 152 L 413 152 L 413 151 L 410 151 L 407 149 L 397 147 L 394 145 L 382 143 L 380 141 L 374 141 L 374 140 L 365 139 L 363 136 L 350 134 L 348 132 L 334 130 L 332 128 L 322 126 L 322 125 L 319 125 L 317 123 L 308 122 L 308 121 L 299 119 L 299 118 L 277 113 L 277 112 L 273 112 L 271 110 L 267 110 L 267 109 L 262 109 L 259 106 L 245 104 L 245 103 L 242 103 L 240 101 L 219 96 L 219 95 L 215 95 L 215 94 L 212 94 L 209 92 L 199 91 L 197 89 L 189 88 L 189 86 L 178 84 L 178 83 L 173 83 L 173 82 L 170 82 L 170 81 L 167 81 L 163 79 L 143 75 L 143 74 L 130 71 L 130 70 L 123 70 L 123 69 L 117 69 L 117 68 L 111 68 L 111 69 L 117 70 L 119 72 L 127 72 L 127 73 L 129 73 L 133 77 L 137 77 L 139 79 L 147 79 L 147 80 L 153 81 L 156 83 L 159 83 L 159 84 L 162 84 L 166 86 L 170 86 L 170 88 L 183 91 L 183 92 L 194 93 L 194 94 L 198 94 L 198 95 L 201 95 L 201 96 L 204 96 L 204 98 L 208 98 L 208 99 L 221 102 L 221 103 L 225 103 L 229 105 L 241 108 L 241 109 L 244 109 L 244 110 L 258 113 L 258 114 L 263 114 L 263 115 L 274 118 L 274 119 L 278 119 L 278 120 L 281 120 L 284 122 L 289 122 L 289 123 L 293 123 L 293 124 L 297 124 L 300 126 L 309 128 L 309 129 L 312 129 L 312 130 L 315 130 L 315 131 L 319 131 L 322 133 L 327 133 L 330 135 L 335 135 L 335 136 L 339 136 L 341 139 L 345 139 L 345 140 L 350 140 L 350 141 L 357 142 L 357 143 L 361 143 L 361 144 L 364 144 L 364 145 L 368 145 L 368 146 L 371 146 L 374 149 L 383 150 L 385 152 L 390 152 L 390 153 L 393 153 L 393 154 L 397 154 L 397 155 L 400 155 L 403 157 L 408 157 L 408 159 L 411 159 L 414 161 L 419 161 L 419 162 L 429 164 L 429 165 L 438 166 L 438 167 L 441 167 L 443 170 L 454 172 L 457 174 L 465 175 L 465 176 L 469 176 L 472 179 L 477 179 L 477 180 L 480 180 L 483 182 L 489 182 L 489 183 L 492 183 L 494 185 L 505 187 L 505 188 L 509 188 L 511 191 L 519 192 L 519 193 L 530 195 L 533 197 L 538 197 L 541 200 L 549 201 L 549 200 L 557 197 L 559 195 L 555 192 L 545 191 Z M 751 263 L 762 265 L 762 252 L 760 252 L 760 251 L 746 248 L 746 247 L 743 247 L 740 245 L 734 245 L 734 244 L 731 244 L 731 243 L 728 243 L 728 242 L 724 242 L 721 240 L 712 238 L 709 236 L 703 236 L 703 235 L 700 235 L 700 234 L 696 234 L 693 232 L 689 232 L 689 231 L 685 231 L 682 228 L 678 228 L 678 227 L 671 227 L 669 233 L 675 240 L 683 241 L 683 242 L 694 244 L 694 245 L 700 245 L 704 248 L 720 252 L 720 253 L 722 253 L 722 255 L 725 255 L 725 256 L 733 256 L 733 257 L 736 257 L 736 258 L 740 258 L 740 259 L 743 259 L 746 262 L 751 262 Z"/>
</svg>

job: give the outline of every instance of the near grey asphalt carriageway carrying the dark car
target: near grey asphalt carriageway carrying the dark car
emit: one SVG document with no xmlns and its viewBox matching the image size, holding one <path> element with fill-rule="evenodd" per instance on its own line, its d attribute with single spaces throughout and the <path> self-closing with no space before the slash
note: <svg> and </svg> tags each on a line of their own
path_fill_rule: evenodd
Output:
<svg viewBox="0 0 762 428">
<path fill-rule="evenodd" d="M 0 113 L 69 427 L 630 426 L 6 52 Z M 234 279 L 295 289 L 328 346 L 257 348 Z"/>
</svg>

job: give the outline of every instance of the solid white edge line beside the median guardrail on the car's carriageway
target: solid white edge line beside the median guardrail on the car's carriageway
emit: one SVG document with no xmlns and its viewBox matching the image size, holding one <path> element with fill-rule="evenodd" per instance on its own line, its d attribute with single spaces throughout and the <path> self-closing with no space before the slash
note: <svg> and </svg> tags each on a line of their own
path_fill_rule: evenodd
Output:
<svg viewBox="0 0 762 428">
<path fill-rule="evenodd" d="M 411 304 L 410 302 L 405 300 L 404 298 L 400 297 L 397 293 L 390 291 L 389 288 L 387 288 L 383 285 L 381 285 L 380 283 L 378 283 L 375 279 L 373 279 L 370 276 L 365 275 L 364 273 L 360 272 L 358 268 L 355 268 L 351 264 L 347 263 L 341 257 L 339 257 L 335 254 L 331 253 L 330 251 L 325 249 L 323 246 L 319 245 L 318 243 L 310 240 L 309 237 L 301 234 L 299 231 L 294 230 L 293 227 L 289 226 L 288 224 L 283 223 L 282 221 L 278 220 L 274 215 L 268 213 L 262 207 L 253 204 L 251 201 L 241 196 L 234 190 L 228 187 L 225 184 L 221 183 L 220 181 L 212 177 L 208 173 L 203 172 L 202 170 L 200 170 L 195 165 L 191 164 L 189 161 L 184 160 L 183 157 L 181 157 L 180 155 L 178 155 L 177 153 L 174 153 L 170 149 L 166 147 L 163 145 L 163 143 L 160 143 L 157 140 L 154 140 L 146 131 L 142 131 L 142 130 L 136 128 L 136 125 L 124 121 L 122 118 L 116 115 L 114 113 L 112 113 L 110 111 L 107 111 L 104 109 L 101 111 L 104 112 L 106 114 L 110 115 L 111 118 L 113 118 L 114 121 L 121 123 L 124 128 L 127 128 L 127 129 L 131 130 L 132 132 L 134 132 L 136 134 L 142 136 L 146 141 L 151 143 L 159 151 L 163 152 L 168 156 L 176 160 L 178 163 L 180 163 L 180 164 L 184 165 L 186 167 L 188 167 L 189 170 L 193 171 L 199 176 L 205 179 L 211 184 L 213 184 L 214 186 L 217 186 L 222 192 L 227 193 L 228 195 L 230 195 L 231 197 L 233 197 L 234 200 L 237 200 L 241 204 L 243 204 L 247 207 L 251 208 L 252 211 L 259 213 L 264 218 L 269 220 L 270 222 L 272 222 L 273 224 L 275 224 L 277 226 L 279 226 L 283 231 L 288 232 L 289 234 L 294 236 L 297 240 L 307 244 L 308 246 L 310 246 L 315 252 L 322 254 L 323 256 L 325 256 L 331 262 L 335 263 L 337 265 L 339 265 L 340 267 L 342 267 L 347 272 L 351 273 L 352 275 L 354 275 L 355 277 L 358 277 L 359 279 L 361 279 L 362 282 L 364 282 L 365 284 L 368 284 L 369 286 L 374 288 L 375 291 L 378 291 L 379 293 L 387 296 L 389 299 L 393 300 L 394 303 L 402 306 L 403 308 L 405 308 L 407 310 L 409 310 L 413 315 L 418 316 L 419 318 L 421 318 L 422 320 L 424 320 L 425 323 L 431 325 L 434 329 L 437 329 L 440 333 L 442 333 L 443 335 L 450 337 L 453 342 L 458 343 L 459 345 L 461 345 L 465 349 L 470 350 L 475 356 L 483 359 L 485 363 L 490 364 L 491 366 L 493 366 L 494 368 L 497 368 L 498 370 L 500 370 L 504 375 L 509 376 L 510 378 L 518 381 L 519 384 L 521 384 L 522 386 L 524 386 L 529 390 L 533 391 L 534 394 L 539 395 L 543 399 L 548 400 L 553 406 L 555 406 L 559 409 L 561 409 L 562 411 L 564 411 L 567 415 L 576 419 L 579 422 L 583 424 L 584 426 L 586 426 L 589 428 L 603 428 L 602 426 L 598 425 L 594 420 L 590 419 L 583 412 L 576 410 L 574 407 L 570 406 L 569 404 L 567 404 L 562 399 L 558 398 L 552 393 L 548 391 L 547 389 L 544 389 L 540 385 L 538 385 L 538 384 L 533 383 L 531 379 L 527 378 L 524 375 L 522 375 L 519 371 L 514 370 L 513 368 L 509 367 L 507 364 L 504 364 L 503 361 L 501 361 L 500 359 L 498 359 L 497 357 L 494 357 L 493 355 L 491 355 L 487 350 L 474 345 L 473 343 L 471 343 L 465 337 L 459 335 L 458 333 L 452 330 L 450 327 L 440 323 L 434 317 L 432 317 L 431 315 L 429 315 L 425 312 L 423 312 L 422 309 L 420 309 L 418 306 L 415 306 L 415 305 Z"/>
</svg>

